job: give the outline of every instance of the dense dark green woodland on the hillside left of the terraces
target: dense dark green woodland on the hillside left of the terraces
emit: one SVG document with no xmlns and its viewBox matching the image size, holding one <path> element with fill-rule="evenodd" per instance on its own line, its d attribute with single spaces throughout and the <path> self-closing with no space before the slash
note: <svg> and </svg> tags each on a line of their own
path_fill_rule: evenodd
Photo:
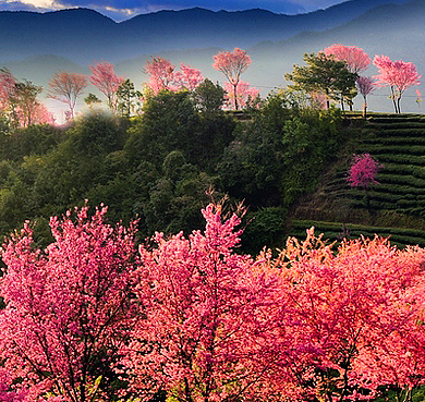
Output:
<svg viewBox="0 0 425 402">
<path fill-rule="evenodd" d="M 108 205 L 112 221 L 138 217 L 142 236 L 187 233 L 201 227 L 201 207 L 227 194 L 256 217 L 245 247 L 275 244 L 288 208 L 314 191 L 347 137 L 340 112 L 296 108 L 280 94 L 236 122 L 201 89 L 162 92 L 131 120 L 94 110 L 65 127 L 4 130 L 1 233 L 31 219 L 46 242 L 47 218 L 84 199 Z"/>
</svg>

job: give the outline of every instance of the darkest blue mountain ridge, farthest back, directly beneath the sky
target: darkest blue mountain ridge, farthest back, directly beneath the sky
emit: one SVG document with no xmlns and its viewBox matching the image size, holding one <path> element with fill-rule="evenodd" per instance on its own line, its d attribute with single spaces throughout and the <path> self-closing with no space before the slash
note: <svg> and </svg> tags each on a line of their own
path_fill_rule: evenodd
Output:
<svg viewBox="0 0 425 402">
<path fill-rule="evenodd" d="M 302 31 L 341 25 L 364 10 L 406 0 L 350 0 L 306 14 L 267 10 L 210 11 L 202 8 L 139 14 L 116 23 L 90 9 L 48 13 L 0 12 L 0 62 L 38 54 L 66 57 L 81 64 L 118 62 L 134 54 L 205 48 L 246 48 L 263 40 L 283 40 Z"/>
</svg>

